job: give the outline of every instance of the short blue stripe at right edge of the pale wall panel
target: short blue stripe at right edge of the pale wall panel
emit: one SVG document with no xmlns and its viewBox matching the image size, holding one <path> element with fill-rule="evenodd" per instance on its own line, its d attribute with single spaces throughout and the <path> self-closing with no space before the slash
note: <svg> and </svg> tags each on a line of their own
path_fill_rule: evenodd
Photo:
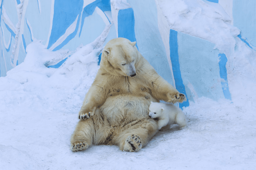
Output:
<svg viewBox="0 0 256 170">
<path fill-rule="evenodd" d="M 226 99 L 231 100 L 231 95 L 230 95 L 230 91 L 227 83 L 227 69 L 226 69 L 227 57 L 225 54 L 219 54 L 218 56 L 220 60 L 219 61 L 220 76 L 222 79 L 225 80 L 225 82 L 221 81 L 222 91 L 223 91 L 224 97 Z"/>
</svg>

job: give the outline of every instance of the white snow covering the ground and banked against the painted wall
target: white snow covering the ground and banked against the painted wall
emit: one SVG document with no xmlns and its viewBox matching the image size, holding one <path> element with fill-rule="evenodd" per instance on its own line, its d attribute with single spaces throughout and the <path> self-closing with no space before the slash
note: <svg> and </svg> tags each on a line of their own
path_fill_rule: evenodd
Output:
<svg viewBox="0 0 256 170">
<path fill-rule="evenodd" d="M 157 2 L 170 27 L 207 39 L 227 52 L 232 101 L 197 97 L 183 109 L 188 128 L 159 131 L 136 153 L 104 145 L 72 152 L 70 137 L 77 114 L 96 76 L 97 56 L 111 25 L 75 52 L 53 52 L 33 41 L 24 62 L 0 77 L 1 169 L 255 168 L 255 50 L 236 37 L 238 29 L 218 4 L 207 8 L 206 2 L 198 0 L 173 1 L 173 6 Z M 169 15 L 169 11 L 173 12 Z M 66 57 L 61 67 L 47 67 Z"/>
</svg>

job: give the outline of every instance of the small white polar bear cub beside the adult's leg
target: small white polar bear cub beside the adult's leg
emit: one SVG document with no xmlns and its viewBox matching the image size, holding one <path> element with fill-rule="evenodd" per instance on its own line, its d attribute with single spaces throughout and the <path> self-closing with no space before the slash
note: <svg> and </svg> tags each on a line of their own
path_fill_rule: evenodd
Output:
<svg viewBox="0 0 256 170">
<path fill-rule="evenodd" d="M 167 124 L 178 124 L 180 129 L 188 126 L 185 114 L 173 104 L 151 102 L 148 116 L 159 118 L 158 130 Z"/>
</svg>

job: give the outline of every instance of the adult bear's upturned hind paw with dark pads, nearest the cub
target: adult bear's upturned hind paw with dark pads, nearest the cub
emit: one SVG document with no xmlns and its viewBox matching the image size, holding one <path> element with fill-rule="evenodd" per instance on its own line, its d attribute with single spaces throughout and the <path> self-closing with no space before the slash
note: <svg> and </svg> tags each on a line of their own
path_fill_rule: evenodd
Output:
<svg viewBox="0 0 256 170">
<path fill-rule="evenodd" d="M 141 149 L 141 139 L 137 135 L 130 135 L 125 140 L 123 151 L 137 152 Z"/>
</svg>

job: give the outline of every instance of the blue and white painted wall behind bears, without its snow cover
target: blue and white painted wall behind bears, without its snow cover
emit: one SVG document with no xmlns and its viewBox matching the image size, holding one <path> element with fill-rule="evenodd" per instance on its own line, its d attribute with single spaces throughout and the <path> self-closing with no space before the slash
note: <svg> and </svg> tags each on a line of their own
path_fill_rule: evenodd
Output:
<svg viewBox="0 0 256 170">
<path fill-rule="evenodd" d="M 220 0 L 204 0 L 209 6 L 218 6 Z M 68 49 L 75 51 L 77 47 L 93 42 L 106 25 L 113 24 L 104 44 L 118 37 L 136 41 L 136 47 L 157 73 L 178 91 L 184 93 L 188 101 L 180 107 L 189 106 L 189 102 L 198 97 L 213 100 L 232 100 L 229 91 L 228 71 L 229 57 L 215 44 L 204 39 L 193 37 L 170 29 L 170 26 L 159 30 L 159 16 L 155 0 L 127 0 L 131 6 L 127 9 L 112 8 L 110 0 L 36 0 L 28 1 L 24 10 L 19 32 L 18 58 L 14 58 L 16 25 L 19 22 L 15 4 L 19 0 L 1 1 L 0 6 L 0 76 L 24 61 L 26 47 L 35 39 L 42 40 L 46 48 L 56 51 Z M 233 22 L 241 33 L 238 35 L 250 49 L 256 46 L 256 1 L 233 0 Z M 112 6 L 113 7 L 113 6 Z M 52 11 L 53 9 L 53 11 Z M 161 11 L 160 11 L 161 12 Z M 8 17 L 4 19 L 3 15 Z M 116 18 L 113 14 L 116 14 Z M 8 22 L 7 22 L 8 21 Z M 11 21 L 11 23 L 9 23 Z M 67 29 L 74 25 L 72 32 Z M 169 42 L 164 41 L 167 38 Z M 65 38 L 61 39 L 63 35 Z M 58 44 L 57 44 L 58 43 Z M 166 44 L 167 43 L 167 44 Z M 168 53 L 170 50 L 170 55 Z M 99 61 L 101 54 L 99 55 Z M 58 68 L 65 62 L 54 63 L 51 68 Z"/>
</svg>

